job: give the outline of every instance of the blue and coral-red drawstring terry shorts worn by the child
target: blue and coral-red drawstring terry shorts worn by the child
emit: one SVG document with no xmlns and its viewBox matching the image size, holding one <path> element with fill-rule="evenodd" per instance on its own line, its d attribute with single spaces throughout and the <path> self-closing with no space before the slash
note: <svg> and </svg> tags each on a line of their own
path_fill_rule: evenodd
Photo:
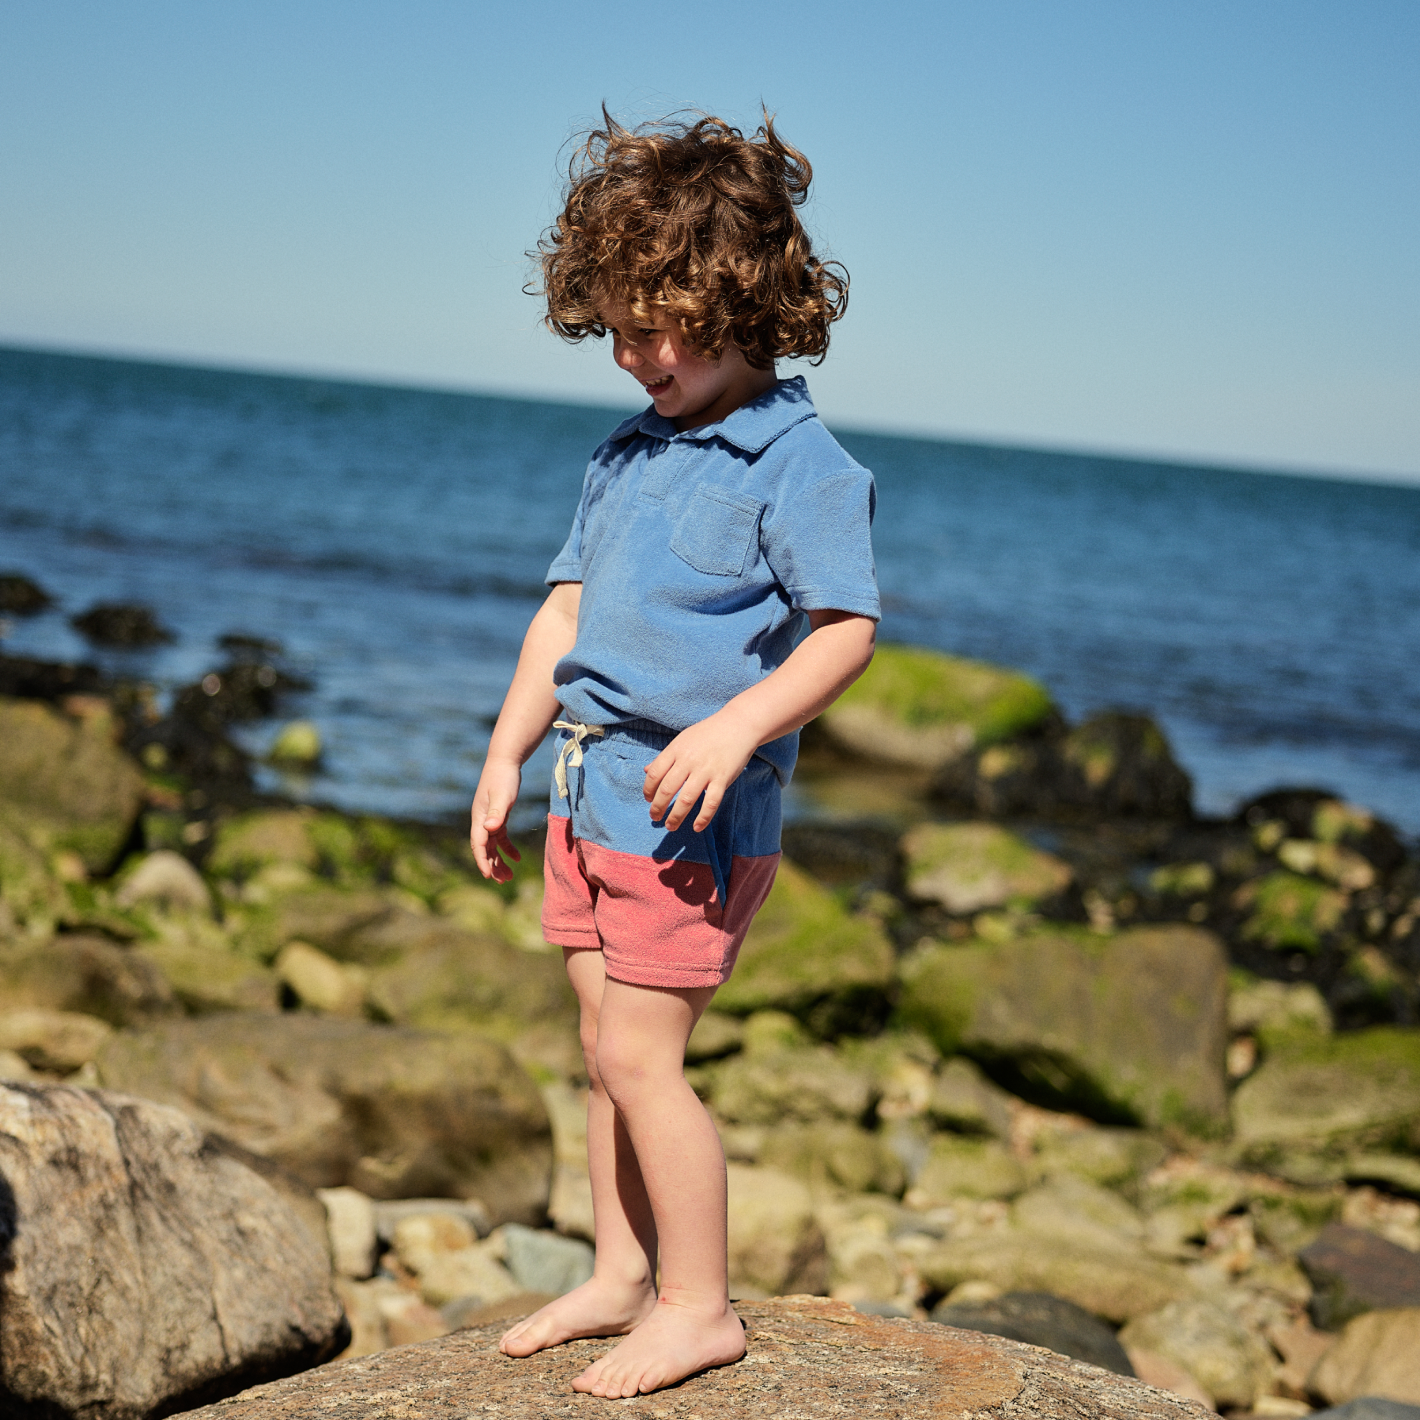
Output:
<svg viewBox="0 0 1420 1420">
<path fill-rule="evenodd" d="M 559 733 L 559 751 L 569 738 Z M 567 798 L 554 780 L 542 934 L 601 951 L 618 981 L 720 985 L 780 865 L 780 782 L 754 758 L 703 834 L 694 814 L 669 832 L 650 821 L 642 788 L 673 738 L 649 720 L 608 726 L 584 740 L 579 767 L 572 757 Z"/>
</svg>

